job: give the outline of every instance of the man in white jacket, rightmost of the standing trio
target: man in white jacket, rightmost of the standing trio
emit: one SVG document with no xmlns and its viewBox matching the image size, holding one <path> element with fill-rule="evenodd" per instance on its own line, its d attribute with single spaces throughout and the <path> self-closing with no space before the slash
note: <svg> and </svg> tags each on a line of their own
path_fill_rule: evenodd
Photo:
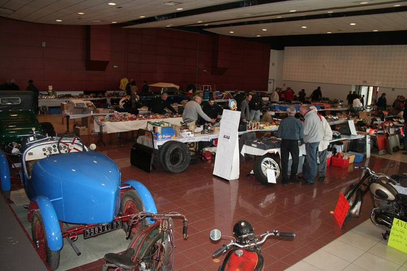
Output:
<svg viewBox="0 0 407 271">
<path fill-rule="evenodd" d="M 319 158 L 319 179 L 318 181 L 323 182 L 325 180 L 325 175 L 327 175 L 327 150 L 329 146 L 329 141 L 332 140 L 332 130 L 329 126 L 328 121 L 318 114 L 315 106 L 310 106 L 309 109 L 312 109 L 321 119 L 321 136 L 322 140 L 319 142 L 318 146 L 318 158 Z"/>
</svg>

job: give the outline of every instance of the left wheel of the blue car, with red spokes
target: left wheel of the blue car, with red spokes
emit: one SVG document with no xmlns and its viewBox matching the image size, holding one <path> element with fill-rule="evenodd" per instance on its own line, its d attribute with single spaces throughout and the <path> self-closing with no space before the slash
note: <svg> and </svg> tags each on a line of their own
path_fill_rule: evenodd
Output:
<svg viewBox="0 0 407 271">
<path fill-rule="evenodd" d="M 42 233 L 42 237 L 37 235 L 36 228 Z M 33 213 L 33 220 L 31 222 L 31 232 L 33 237 L 34 245 L 37 246 L 40 251 L 40 257 L 47 263 L 49 268 L 53 271 L 60 265 L 60 251 L 52 251 L 48 247 L 48 241 L 45 234 L 44 222 L 42 220 L 42 215 L 40 210 L 35 210 Z M 43 246 L 39 247 L 37 245 L 38 237 L 40 237 L 40 242 L 43 242 Z"/>
</svg>

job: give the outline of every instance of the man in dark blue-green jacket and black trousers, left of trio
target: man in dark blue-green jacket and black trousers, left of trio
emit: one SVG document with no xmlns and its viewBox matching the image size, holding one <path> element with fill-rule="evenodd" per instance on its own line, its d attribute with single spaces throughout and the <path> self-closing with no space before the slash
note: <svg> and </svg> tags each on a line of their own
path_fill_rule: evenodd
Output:
<svg viewBox="0 0 407 271">
<path fill-rule="evenodd" d="M 283 119 L 280 122 L 280 126 L 277 131 L 277 138 L 281 138 L 281 174 L 283 175 L 282 184 L 287 185 L 290 183 L 296 183 L 300 180 L 296 179 L 300 149 L 298 148 L 298 141 L 303 138 L 303 125 L 301 121 L 297 120 L 294 115 L 296 114 L 294 106 L 287 108 L 288 118 Z M 291 173 L 288 179 L 288 159 L 289 155 L 293 159 L 291 165 Z"/>
</svg>

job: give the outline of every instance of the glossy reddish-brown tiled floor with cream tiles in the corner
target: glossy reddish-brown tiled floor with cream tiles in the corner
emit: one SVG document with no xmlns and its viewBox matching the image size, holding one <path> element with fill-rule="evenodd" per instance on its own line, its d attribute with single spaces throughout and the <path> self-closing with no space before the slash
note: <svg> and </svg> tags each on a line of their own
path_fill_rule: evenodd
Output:
<svg viewBox="0 0 407 271">
<path fill-rule="evenodd" d="M 40 115 L 39 119 L 53 123 L 59 134 L 66 130 L 61 115 Z M 99 138 L 84 136 L 81 139 L 88 145 Z M 188 240 L 182 239 L 182 222 L 175 222 L 175 270 L 217 270 L 220 263 L 212 258 L 212 253 L 228 240 L 211 241 L 210 230 L 218 228 L 224 235 L 231 235 L 237 221 L 247 220 L 257 234 L 274 229 L 297 234 L 294 239 L 269 238 L 261 246 L 265 270 L 407 271 L 406 254 L 386 246 L 381 230 L 366 221 L 372 208 L 369 201 L 363 205 L 362 217 L 342 228 L 331 213 L 339 194 L 363 174 L 354 166 L 368 166 L 387 175 L 405 172 L 407 155 L 401 152 L 396 154 L 399 161 L 372 156 L 346 169 L 329 167 L 325 182 L 312 186 L 300 183 L 264 186 L 246 177 L 253 167 L 251 159 L 240 164 L 239 179 L 230 182 L 212 175 L 214 161 L 199 162 L 179 174 L 168 173 L 159 166 L 150 174 L 143 172 L 130 165 L 133 140 L 127 138 L 126 133 L 122 133 L 121 138 L 108 134 L 104 136 L 107 146 L 99 144 L 97 151 L 119 165 L 123 181 L 143 182 L 150 189 L 159 212 L 176 211 L 187 216 Z M 98 260 L 70 270 L 100 270 L 101 264 L 102 260 Z"/>
</svg>

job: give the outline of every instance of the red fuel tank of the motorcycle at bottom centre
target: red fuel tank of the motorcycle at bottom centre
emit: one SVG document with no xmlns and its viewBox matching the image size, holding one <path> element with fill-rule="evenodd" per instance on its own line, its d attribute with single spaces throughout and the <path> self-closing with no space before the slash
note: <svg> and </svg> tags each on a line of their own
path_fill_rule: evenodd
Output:
<svg viewBox="0 0 407 271">
<path fill-rule="evenodd" d="M 235 248 L 229 251 L 223 261 L 221 271 L 262 271 L 264 270 L 264 258 L 260 253 Z"/>
</svg>

